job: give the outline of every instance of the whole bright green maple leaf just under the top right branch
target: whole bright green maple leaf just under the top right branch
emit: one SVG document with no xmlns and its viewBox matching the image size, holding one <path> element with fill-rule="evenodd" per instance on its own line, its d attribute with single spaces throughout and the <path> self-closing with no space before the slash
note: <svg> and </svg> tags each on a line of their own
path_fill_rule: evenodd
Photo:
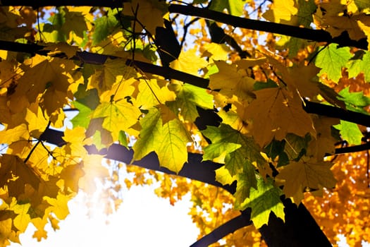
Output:
<svg viewBox="0 0 370 247">
<path fill-rule="evenodd" d="M 347 66 L 351 57 L 350 47 L 338 48 L 338 44 L 329 44 L 317 54 L 315 65 L 321 68 L 319 75 L 326 73 L 329 79 L 338 83 L 342 76 L 342 68 Z"/>
</svg>

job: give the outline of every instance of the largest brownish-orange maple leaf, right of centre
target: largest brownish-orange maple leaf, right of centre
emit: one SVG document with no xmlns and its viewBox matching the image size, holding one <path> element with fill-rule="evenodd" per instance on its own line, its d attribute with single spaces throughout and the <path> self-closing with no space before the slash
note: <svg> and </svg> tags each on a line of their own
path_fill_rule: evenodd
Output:
<svg viewBox="0 0 370 247">
<path fill-rule="evenodd" d="M 254 92 L 257 100 L 245 109 L 252 119 L 254 140 L 264 147 L 273 138 L 283 140 L 288 133 L 304 136 L 314 133 L 312 119 L 302 109 L 302 101 L 283 88 L 265 88 Z"/>
</svg>

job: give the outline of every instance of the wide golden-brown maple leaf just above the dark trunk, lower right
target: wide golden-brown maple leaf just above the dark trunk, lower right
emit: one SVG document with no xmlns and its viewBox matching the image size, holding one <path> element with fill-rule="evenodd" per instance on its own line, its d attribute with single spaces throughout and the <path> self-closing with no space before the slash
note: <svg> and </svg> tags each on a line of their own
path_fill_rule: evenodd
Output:
<svg viewBox="0 0 370 247">
<path fill-rule="evenodd" d="M 306 188 L 333 188 L 336 180 L 331 171 L 332 165 L 314 158 L 307 161 L 301 159 L 282 167 L 276 178 L 285 181 L 283 191 L 287 197 L 297 197 L 297 193 L 302 194 Z"/>
</svg>

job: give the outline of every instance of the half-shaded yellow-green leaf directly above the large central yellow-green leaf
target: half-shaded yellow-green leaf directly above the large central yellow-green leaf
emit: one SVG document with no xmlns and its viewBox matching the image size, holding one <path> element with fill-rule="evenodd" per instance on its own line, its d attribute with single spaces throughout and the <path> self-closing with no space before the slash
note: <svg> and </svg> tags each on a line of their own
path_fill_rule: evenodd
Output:
<svg viewBox="0 0 370 247">
<path fill-rule="evenodd" d="M 198 88 L 190 84 L 184 84 L 178 90 L 176 100 L 167 102 L 173 112 L 180 112 L 185 120 L 195 121 L 199 116 L 197 107 L 214 109 L 214 97 L 204 88 Z"/>
</svg>

